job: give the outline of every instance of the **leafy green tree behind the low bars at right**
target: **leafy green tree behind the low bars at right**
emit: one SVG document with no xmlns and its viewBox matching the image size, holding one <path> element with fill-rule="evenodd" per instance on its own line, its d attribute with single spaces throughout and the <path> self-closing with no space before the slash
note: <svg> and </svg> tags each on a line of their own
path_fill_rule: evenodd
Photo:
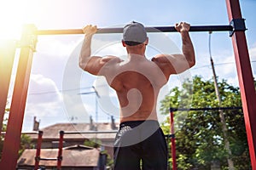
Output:
<svg viewBox="0 0 256 170">
<path fill-rule="evenodd" d="M 218 82 L 222 107 L 241 106 L 239 88 L 230 86 L 225 80 Z M 193 89 L 193 90 L 192 90 Z M 160 111 L 169 114 L 169 108 L 218 107 L 214 82 L 194 77 L 193 82 L 184 82 L 182 89 L 173 88 L 161 101 Z M 224 150 L 224 139 L 218 111 L 175 111 L 175 136 L 178 169 L 210 169 L 212 161 L 227 169 L 228 153 Z M 231 159 L 236 169 L 249 169 L 247 135 L 241 110 L 224 111 L 228 127 L 228 139 L 232 150 Z M 167 120 L 162 127 L 169 133 Z M 170 159 L 170 161 L 172 161 Z M 171 163 L 172 164 L 172 163 Z"/>
</svg>

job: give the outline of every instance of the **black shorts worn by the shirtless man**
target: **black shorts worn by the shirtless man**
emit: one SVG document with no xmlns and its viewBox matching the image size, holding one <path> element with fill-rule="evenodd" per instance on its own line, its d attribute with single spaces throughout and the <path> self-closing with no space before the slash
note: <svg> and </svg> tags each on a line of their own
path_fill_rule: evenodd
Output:
<svg viewBox="0 0 256 170">
<path fill-rule="evenodd" d="M 122 122 L 114 142 L 114 169 L 167 169 L 165 135 L 157 121 Z"/>
</svg>

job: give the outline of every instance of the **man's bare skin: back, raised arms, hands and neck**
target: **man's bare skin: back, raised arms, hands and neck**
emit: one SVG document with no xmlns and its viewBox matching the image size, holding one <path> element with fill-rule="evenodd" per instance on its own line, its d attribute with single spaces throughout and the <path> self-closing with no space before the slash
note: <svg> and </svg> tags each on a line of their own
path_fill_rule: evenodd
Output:
<svg viewBox="0 0 256 170">
<path fill-rule="evenodd" d="M 91 38 L 97 29 L 96 26 L 85 26 L 79 66 L 90 74 L 106 77 L 108 84 L 116 90 L 121 122 L 156 120 L 155 107 L 160 88 L 166 84 L 171 74 L 179 74 L 195 65 L 195 51 L 189 37 L 189 28 L 189 24 L 185 22 L 175 26 L 182 37 L 183 54 L 158 54 L 149 61 L 144 57 L 147 37 L 145 42 L 138 41 L 141 43 L 137 45 L 122 41 L 128 54 L 128 60 L 124 61 L 114 56 L 91 56 Z"/>
</svg>

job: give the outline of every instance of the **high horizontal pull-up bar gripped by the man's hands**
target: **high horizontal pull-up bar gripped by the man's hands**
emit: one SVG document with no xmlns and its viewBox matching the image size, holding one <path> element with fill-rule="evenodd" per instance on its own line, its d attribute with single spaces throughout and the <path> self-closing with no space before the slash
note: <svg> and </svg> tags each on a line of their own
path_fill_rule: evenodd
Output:
<svg viewBox="0 0 256 170">
<path fill-rule="evenodd" d="M 146 27 L 148 32 L 176 32 L 174 26 Z M 233 31 L 233 26 L 190 26 L 189 31 Z M 96 33 L 122 33 L 123 28 L 99 28 Z M 82 29 L 38 30 L 37 35 L 84 34 Z"/>
</svg>

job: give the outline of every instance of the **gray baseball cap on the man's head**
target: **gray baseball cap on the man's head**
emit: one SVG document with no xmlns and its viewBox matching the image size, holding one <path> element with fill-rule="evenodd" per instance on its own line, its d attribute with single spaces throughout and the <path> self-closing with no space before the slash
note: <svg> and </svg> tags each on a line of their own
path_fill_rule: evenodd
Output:
<svg viewBox="0 0 256 170">
<path fill-rule="evenodd" d="M 123 41 L 130 46 L 143 43 L 147 40 L 147 31 L 143 24 L 132 21 L 123 30 Z"/>
</svg>

